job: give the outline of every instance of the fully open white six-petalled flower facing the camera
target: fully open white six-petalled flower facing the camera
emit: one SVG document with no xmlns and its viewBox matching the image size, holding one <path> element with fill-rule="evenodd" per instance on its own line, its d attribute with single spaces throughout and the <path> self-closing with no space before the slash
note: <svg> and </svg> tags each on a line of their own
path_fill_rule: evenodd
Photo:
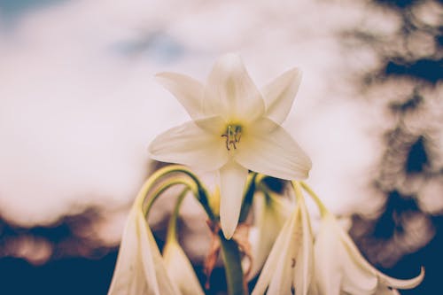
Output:
<svg viewBox="0 0 443 295">
<path fill-rule="evenodd" d="M 221 229 L 227 238 L 237 227 L 248 169 L 287 180 L 307 177 L 310 159 L 279 125 L 300 77 L 291 69 L 260 92 L 235 54 L 217 60 L 206 86 L 182 74 L 158 74 L 192 120 L 155 138 L 152 158 L 220 172 Z"/>
</svg>

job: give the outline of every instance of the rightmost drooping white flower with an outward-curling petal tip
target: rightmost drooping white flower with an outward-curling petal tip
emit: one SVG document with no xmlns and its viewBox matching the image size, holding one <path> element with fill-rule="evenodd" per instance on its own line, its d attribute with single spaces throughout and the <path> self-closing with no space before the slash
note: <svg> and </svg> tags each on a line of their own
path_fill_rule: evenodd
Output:
<svg viewBox="0 0 443 295">
<path fill-rule="evenodd" d="M 424 278 L 424 269 L 410 280 L 385 276 L 363 258 L 353 240 L 336 218 L 324 213 L 315 238 L 315 287 L 318 294 L 398 294 L 395 289 L 416 287 Z"/>
</svg>

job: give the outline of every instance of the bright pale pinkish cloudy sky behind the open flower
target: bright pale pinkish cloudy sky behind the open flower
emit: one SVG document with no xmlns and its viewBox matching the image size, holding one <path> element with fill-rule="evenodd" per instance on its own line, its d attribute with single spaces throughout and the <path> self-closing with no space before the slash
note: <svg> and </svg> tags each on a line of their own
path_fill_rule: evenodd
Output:
<svg viewBox="0 0 443 295">
<path fill-rule="evenodd" d="M 271 3 L 70 1 L 2 31 L 0 213 L 32 226 L 84 206 L 128 206 L 150 172 L 149 142 L 187 120 L 153 75 L 175 71 L 203 81 L 227 51 L 242 54 L 259 86 L 292 66 L 303 70 L 284 126 L 311 155 L 308 182 L 325 203 L 334 211 L 358 203 L 379 156 L 371 134 L 379 109 L 359 100 L 349 78 L 377 58 L 340 47 L 335 34 L 369 26 L 368 8 Z M 398 19 L 383 19 L 377 29 L 388 34 Z M 167 63 L 151 51 L 113 50 L 152 32 L 170 36 L 183 53 Z"/>
</svg>

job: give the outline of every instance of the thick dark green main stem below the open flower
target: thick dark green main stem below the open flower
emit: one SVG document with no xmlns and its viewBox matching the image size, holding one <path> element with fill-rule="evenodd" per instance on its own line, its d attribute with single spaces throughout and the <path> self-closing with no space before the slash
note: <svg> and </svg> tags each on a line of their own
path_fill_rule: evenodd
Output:
<svg viewBox="0 0 443 295">
<path fill-rule="evenodd" d="M 226 283 L 228 284 L 228 294 L 246 295 L 248 291 L 244 281 L 238 245 L 233 239 L 227 240 L 222 232 L 219 233 L 219 237 L 221 242 L 221 255 L 226 274 Z"/>
</svg>

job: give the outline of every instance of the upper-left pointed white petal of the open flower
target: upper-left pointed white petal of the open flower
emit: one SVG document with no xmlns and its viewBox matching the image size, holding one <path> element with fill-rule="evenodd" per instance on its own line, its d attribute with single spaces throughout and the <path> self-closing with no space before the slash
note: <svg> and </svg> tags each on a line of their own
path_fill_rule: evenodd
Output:
<svg viewBox="0 0 443 295">
<path fill-rule="evenodd" d="M 157 80 L 183 105 L 192 119 L 202 118 L 203 85 L 184 74 L 159 73 Z"/>
</svg>

